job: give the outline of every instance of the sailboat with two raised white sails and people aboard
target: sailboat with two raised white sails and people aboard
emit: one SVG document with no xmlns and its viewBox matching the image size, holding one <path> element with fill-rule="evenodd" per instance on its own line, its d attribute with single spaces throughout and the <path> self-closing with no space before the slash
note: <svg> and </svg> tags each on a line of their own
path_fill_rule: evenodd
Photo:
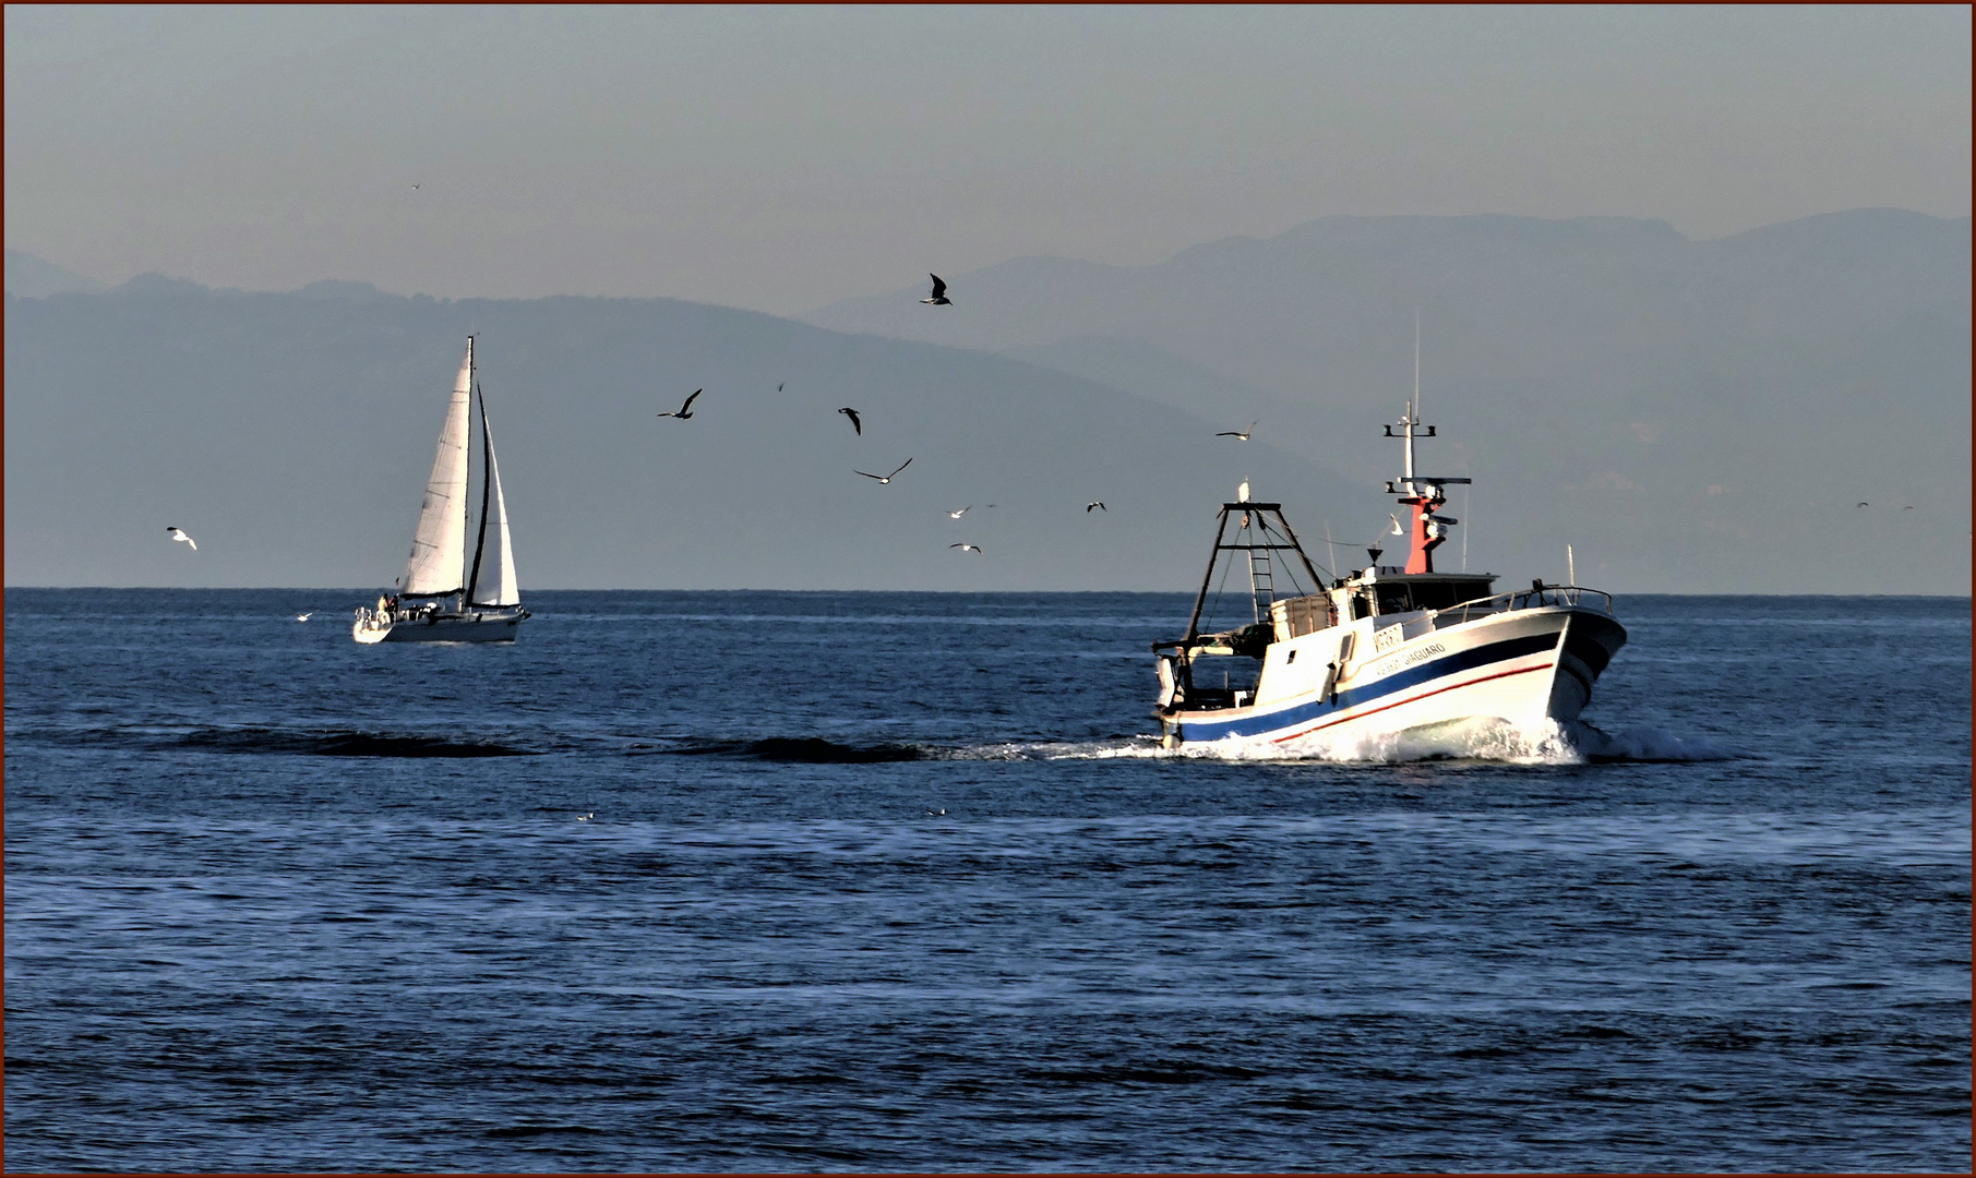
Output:
<svg viewBox="0 0 1976 1178">
<path fill-rule="evenodd" d="M 480 536 L 472 563 L 466 559 L 470 530 L 466 502 L 468 413 L 480 403 Z M 399 591 L 379 597 L 375 609 L 358 609 L 350 636 L 358 642 L 514 642 L 522 629 L 522 591 L 514 579 L 514 544 L 508 536 L 508 500 L 500 490 L 500 463 L 488 431 L 486 393 L 474 370 L 474 338 L 453 381 L 447 423 L 439 431 L 433 476 L 425 482 L 419 530 Z"/>
</svg>

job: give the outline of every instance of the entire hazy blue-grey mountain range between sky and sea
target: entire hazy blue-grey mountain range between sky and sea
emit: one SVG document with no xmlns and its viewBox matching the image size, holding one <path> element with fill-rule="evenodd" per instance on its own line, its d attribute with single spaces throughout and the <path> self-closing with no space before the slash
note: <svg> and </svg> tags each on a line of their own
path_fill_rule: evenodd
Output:
<svg viewBox="0 0 1976 1178">
<path fill-rule="evenodd" d="M 1476 478 L 1444 561 L 1466 542 L 1470 567 L 1555 579 L 1569 542 L 1581 579 L 1622 591 L 1968 593 L 1968 241 L 1966 217 L 1887 210 L 1719 241 L 1326 217 L 1162 267 L 1016 259 L 948 275 L 952 308 L 881 308 L 1024 364 L 676 300 L 144 275 L 8 300 L 8 577 L 115 581 L 152 524 L 198 536 L 196 514 L 148 518 L 184 502 L 253 538 L 227 551 L 296 571 L 174 581 L 190 569 L 152 553 L 138 583 L 389 581 L 480 330 L 524 585 L 1186 587 L 1194 522 L 1247 474 L 1306 538 L 1385 524 L 1379 423 L 1411 391 L 1421 306 L 1423 463 Z M 1099 320 L 1124 326 L 1073 330 Z M 1049 342 L 1006 342 L 1045 322 Z M 652 417 L 700 385 L 696 421 Z M 1211 437 L 1255 417 L 1255 443 Z M 893 488 L 850 474 L 907 457 Z M 1091 498 L 1111 512 L 1085 518 Z M 945 518 L 968 502 L 1004 506 Z M 998 559 L 927 563 L 952 540 Z"/>
</svg>

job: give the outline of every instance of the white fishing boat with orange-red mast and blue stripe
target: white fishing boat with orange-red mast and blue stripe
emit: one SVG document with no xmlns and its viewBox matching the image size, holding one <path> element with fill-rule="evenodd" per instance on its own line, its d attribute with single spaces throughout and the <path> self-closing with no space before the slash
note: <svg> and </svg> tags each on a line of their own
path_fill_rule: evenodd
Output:
<svg viewBox="0 0 1976 1178">
<path fill-rule="evenodd" d="M 1407 512 L 1393 516 L 1409 536 L 1403 565 L 1381 565 L 1383 549 L 1365 547 L 1363 569 L 1326 579 L 1280 504 L 1251 502 L 1247 482 L 1221 504 L 1188 632 L 1152 646 L 1166 747 L 1245 741 L 1294 755 L 1395 733 L 1537 731 L 1591 702 L 1626 642 L 1612 597 L 1541 579 L 1496 593 L 1492 573 L 1435 569 L 1435 549 L 1460 524 L 1441 514 L 1446 486 L 1468 478 L 1415 470 L 1415 441 L 1437 435 L 1417 407 L 1419 389 L 1385 427 L 1403 447 L 1403 474 L 1385 484 Z M 1231 577 L 1239 625 L 1211 631 Z"/>
</svg>

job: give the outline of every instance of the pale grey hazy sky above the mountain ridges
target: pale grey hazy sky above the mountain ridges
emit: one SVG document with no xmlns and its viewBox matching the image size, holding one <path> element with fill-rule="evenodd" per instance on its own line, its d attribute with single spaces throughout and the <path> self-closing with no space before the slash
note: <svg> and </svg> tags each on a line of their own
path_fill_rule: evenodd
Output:
<svg viewBox="0 0 1976 1178">
<path fill-rule="evenodd" d="M 1968 215 L 1970 32 L 1966 6 L 8 6 L 6 245 L 113 283 L 790 314 L 1326 213 Z"/>
</svg>

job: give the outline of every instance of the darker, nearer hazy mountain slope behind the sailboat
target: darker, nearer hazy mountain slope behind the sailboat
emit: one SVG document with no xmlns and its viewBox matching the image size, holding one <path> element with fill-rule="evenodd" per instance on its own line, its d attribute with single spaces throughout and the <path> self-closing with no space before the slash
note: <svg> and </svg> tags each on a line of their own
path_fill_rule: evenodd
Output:
<svg viewBox="0 0 1976 1178">
<path fill-rule="evenodd" d="M 389 585 L 468 332 L 524 595 L 1192 589 L 1243 478 L 1318 536 L 1324 512 L 1340 538 L 1383 520 L 1225 423 L 980 352 L 674 300 L 148 275 L 6 300 L 8 583 Z M 656 417 L 696 387 L 692 421 Z M 891 486 L 854 472 L 905 459 Z"/>
</svg>

